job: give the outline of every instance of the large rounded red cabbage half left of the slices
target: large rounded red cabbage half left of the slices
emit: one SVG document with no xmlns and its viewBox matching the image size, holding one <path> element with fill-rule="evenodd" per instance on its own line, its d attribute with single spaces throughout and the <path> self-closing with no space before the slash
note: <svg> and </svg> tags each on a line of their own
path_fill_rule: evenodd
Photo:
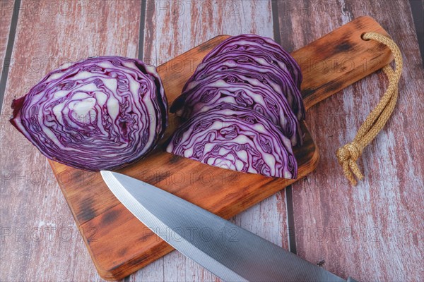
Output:
<svg viewBox="0 0 424 282">
<path fill-rule="evenodd" d="M 93 57 L 49 73 L 12 104 L 11 123 L 49 159 L 89 171 L 146 156 L 167 126 L 155 67 Z"/>
</svg>

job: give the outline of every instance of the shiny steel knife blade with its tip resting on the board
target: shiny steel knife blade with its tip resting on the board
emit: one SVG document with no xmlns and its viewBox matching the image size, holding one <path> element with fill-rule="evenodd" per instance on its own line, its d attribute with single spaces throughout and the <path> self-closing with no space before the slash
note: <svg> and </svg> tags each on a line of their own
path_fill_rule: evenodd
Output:
<svg viewBox="0 0 424 282">
<path fill-rule="evenodd" d="M 225 281 L 346 281 L 165 190 L 120 173 L 101 174 L 137 219 Z"/>
</svg>

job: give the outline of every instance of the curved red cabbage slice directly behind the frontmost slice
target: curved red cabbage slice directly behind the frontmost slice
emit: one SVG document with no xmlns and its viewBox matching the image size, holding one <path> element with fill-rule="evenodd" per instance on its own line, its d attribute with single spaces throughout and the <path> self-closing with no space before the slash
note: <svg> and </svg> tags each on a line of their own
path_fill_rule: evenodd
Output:
<svg viewBox="0 0 424 282">
<path fill-rule="evenodd" d="M 215 109 L 220 104 L 235 104 L 251 109 L 278 125 L 292 145 L 302 143 L 300 123 L 284 95 L 262 81 L 261 75 L 241 71 L 216 72 L 192 81 L 174 106 L 178 116 L 190 118 L 199 112 Z M 174 109 L 175 109 L 174 108 Z"/>
</svg>

